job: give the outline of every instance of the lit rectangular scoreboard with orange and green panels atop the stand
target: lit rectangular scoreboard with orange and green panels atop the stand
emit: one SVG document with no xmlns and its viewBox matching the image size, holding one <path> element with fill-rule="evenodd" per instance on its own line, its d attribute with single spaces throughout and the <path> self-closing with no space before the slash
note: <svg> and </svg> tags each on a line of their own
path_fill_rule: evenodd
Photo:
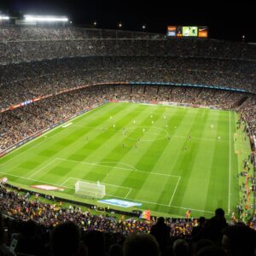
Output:
<svg viewBox="0 0 256 256">
<path fill-rule="evenodd" d="M 207 26 L 167 26 L 168 38 L 208 38 Z"/>
</svg>

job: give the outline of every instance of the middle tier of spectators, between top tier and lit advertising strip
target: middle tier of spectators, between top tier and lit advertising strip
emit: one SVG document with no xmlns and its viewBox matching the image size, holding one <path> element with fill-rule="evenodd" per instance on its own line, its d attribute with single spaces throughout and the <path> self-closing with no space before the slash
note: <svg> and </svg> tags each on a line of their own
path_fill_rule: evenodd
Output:
<svg viewBox="0 0 256 256">
<path fill-rule="evenodd" d="M 0 108 L 95 83 L 205 84 L 255 93 L 256 69 L 246 72 L 241 71 L 242 67 L 236 61 L 148 56 L 78 57 L 0 65 Z"/>
</svg>

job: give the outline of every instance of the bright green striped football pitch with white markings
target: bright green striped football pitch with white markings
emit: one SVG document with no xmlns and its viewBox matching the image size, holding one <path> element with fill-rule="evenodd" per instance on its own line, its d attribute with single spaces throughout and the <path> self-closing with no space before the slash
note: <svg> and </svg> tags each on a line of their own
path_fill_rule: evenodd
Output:
<svg viewBox="0 0 256 256">
<path fill-rule="evenodd" d="M 237 152 L 248 147 L 235 144 L 236 119 L 207 108 L 107 103 L 4 156 L 0 177 L 25 189 L 55 185 L 64 191 L 32 190 L 93 203 L 75 195 L 74 184 L 100 181 L 104 199 L 141 203 L 136 209 L 155 215 L 190 209 L 211 217 L 217 207 L 229 214 L 239 201 Z"/>
</svg>

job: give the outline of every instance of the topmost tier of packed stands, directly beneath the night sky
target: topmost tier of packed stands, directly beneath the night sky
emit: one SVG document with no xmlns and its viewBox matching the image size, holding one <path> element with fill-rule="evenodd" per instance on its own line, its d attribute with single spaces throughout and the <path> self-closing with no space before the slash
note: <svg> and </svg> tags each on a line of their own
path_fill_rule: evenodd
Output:
<svg viewBox="0 0 256 256">
<path fill-rule="evenodd" d="M 157 55 L 256 61 L 253 44 L 75 27 L 0 28 L 0 64 L 70 56 Z"/>
</svg>

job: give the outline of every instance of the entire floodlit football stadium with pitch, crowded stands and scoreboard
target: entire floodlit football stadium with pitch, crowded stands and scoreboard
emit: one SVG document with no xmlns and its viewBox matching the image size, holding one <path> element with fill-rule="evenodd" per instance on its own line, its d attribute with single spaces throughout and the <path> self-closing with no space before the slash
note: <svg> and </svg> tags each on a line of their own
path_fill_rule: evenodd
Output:
<svg viewBox="0 0 256 256">
<path fill-rule="evenodd" d="M 194 239 L 202 217 L 253 232 L 256 47 L 207 33 L 0 24 L 5 221 L 71 220 L 115 241 L 154 235 L 160 217 L 176 239 Z"/>
</svg>

